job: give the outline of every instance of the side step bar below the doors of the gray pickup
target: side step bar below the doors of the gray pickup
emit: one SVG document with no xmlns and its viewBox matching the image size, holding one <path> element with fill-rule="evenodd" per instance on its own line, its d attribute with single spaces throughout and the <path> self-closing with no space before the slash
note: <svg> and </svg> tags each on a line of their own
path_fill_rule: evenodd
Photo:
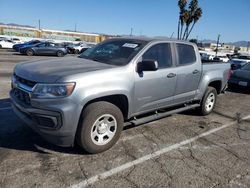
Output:
<svg viewBox="0 0 250 188">
<path fill-rule="evenodd" d="M 167 111 L 167 112 L 159 112 L 157 114 L 142 117 L 140 119 L 131 120 L 128 123 L 131 123 L 133 126 L 137 126 L 137 125 L 141 125 L 144 123 L 148 123 L 148 122 L 151 122 L 154 120 L 158 120 L 158 119 L 167 117 L 167 116 L 172 115 L 172 114 L 177 114 L 177 113 L 180 113 L 180 112 L 183 112 L 186 110 L 194 109 L 194 108 L 199 107 L 199 106 L 200 106 L 199 104 L 192 104 L 192 105 L 184 106 L 182 108 L 178 108 L 175 110 L 171 110 L 171 111 Z"/>
</svg>

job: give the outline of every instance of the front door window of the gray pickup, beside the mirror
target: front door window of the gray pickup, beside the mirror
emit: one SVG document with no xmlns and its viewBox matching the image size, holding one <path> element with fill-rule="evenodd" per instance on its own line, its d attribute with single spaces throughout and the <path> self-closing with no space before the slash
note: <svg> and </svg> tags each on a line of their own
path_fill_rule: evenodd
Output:
<svg viewBox="0 0 250 188">
<path fill-rule="evenodd" d="M 168 43 L 156 44 L 149 48 L 142 56 L 143 59 L 156 60 L 159 69 L 172 66 L 171 48 Z"/>
</svg>

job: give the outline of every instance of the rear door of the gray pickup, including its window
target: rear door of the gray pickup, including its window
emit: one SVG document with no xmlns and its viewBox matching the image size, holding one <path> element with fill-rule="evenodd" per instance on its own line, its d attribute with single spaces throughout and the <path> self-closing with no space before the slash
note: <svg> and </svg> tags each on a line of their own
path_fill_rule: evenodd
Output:
<svg viewBox="0 0 250 188">
<path fill-rule="evenodd" d="M 177 82 L 174 103 L 184 103 L 194 99 L 200 78 L 201 62 L 191 44 L 176 43 Z"/>
</svg>

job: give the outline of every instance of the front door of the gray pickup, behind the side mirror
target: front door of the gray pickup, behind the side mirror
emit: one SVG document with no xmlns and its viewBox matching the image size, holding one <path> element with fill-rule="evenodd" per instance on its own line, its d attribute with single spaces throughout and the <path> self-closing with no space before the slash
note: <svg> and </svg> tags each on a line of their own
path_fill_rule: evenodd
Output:
<svg viewBox="0 0 250 188">
<path fill-rule="evenodd" d="M 156 60 L 157 71 L 144 71 L 135 76 L 135 112 L 146 112 L 170 106 L 176 85 L 172 50 L 169 43 L 157 43 L 149 47 L 140 60 Z"/>
</svg>

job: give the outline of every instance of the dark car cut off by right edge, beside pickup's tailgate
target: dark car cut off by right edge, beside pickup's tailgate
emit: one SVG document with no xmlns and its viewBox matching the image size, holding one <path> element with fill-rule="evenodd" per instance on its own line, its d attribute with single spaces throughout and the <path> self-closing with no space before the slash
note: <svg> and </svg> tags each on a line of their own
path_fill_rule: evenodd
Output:
<svg viewBox="0 0 250 188">
<path fill-rule="evenodd" d="M 250 63 L 247 63 L 243 67 L 233 71 L 228 81 L 228 87 L 243 87 L 250 89 Z"/>
</svg>

